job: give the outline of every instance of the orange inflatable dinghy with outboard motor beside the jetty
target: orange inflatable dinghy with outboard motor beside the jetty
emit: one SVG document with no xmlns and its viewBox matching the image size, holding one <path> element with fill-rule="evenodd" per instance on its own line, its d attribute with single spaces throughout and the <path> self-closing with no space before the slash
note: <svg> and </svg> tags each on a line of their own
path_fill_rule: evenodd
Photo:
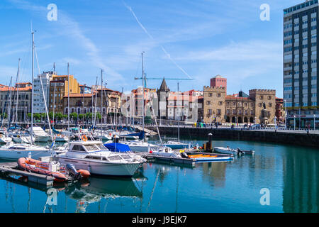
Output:
<svg viewBox="0 0 319 227">
<path fill-rule="evenodd" d="M 67 182 L 90 176 L 89 171 L 76 170 L 72 164 L 60 165 L 60 162 L 41 162 L 30 157 L 19 158 L 18 167 L 20 167 L 21 170 L 55 177 L 55 182 Z"/>
</svg>

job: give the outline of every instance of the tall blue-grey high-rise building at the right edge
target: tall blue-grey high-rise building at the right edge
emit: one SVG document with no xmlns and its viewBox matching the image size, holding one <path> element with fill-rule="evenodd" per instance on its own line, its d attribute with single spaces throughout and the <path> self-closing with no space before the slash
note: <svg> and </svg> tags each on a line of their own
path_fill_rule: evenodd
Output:
<svg viewBox="0 0 319 227">
<path fill-rule="evenodd" d="M 284 101 L 287 124 L 313 127 L 318 115 L 318 0 L 284 9 Z"/>
</svg>

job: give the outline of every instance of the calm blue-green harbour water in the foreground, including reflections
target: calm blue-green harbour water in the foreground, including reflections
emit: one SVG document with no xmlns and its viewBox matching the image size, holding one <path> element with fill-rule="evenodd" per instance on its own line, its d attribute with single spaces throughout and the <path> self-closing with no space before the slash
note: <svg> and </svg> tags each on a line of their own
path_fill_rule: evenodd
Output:
<svg viewBox="0 0 319 227">
<path fill-rule="evenodd" d="M 133 179 L 91 177 L 51 189 L 2 177 L 0 212 L 318 212 L 319 150 L 213 141 L 227 145 L 255 155 L 193 168 L 145 163 Z M 269 206 L 260 204 L 263 188 L 269 189 Z"/>
</svg>

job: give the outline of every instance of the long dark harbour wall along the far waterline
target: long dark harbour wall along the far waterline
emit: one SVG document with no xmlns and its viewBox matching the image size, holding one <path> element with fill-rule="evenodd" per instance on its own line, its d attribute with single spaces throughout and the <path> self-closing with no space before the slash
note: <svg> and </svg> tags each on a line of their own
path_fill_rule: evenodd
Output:
<svg viewBox="0 0 319 227">
<path fill-rule="evenodd" d="M 147 126 L 147 128 L 157 131 L 155 127 Z M 178 135 L 177 127 L 159 126 L 161 135 L 174 136 Z M 187 128 L 181 126 L 179 135 L 189 138 L 208 138 L 208 133 L 213 134 L 213 139 L 223 140 L 250 140 L 267 143 L 283 143 L 289 145 L 301 145 L 312 148 L 319 148 L 319 134 L 304 132 L 287 132 L 287 131 L 252 131 L 230 128 Z"/>
</svg>

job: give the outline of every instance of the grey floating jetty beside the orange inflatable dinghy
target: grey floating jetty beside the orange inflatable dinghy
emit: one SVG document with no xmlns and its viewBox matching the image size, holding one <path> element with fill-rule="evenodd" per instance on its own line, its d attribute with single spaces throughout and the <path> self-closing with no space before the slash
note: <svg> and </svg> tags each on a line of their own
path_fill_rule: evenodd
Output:
<svg viewBox="0 0 319 227">
<path fill-rule="evenodd" d="M 42 184 L 46 187 L 50 187 L 53 185 L 54 177 L 39 175 L 34 172 L 28 172 L 18 169 L 17 162 L 4 162 L 0 163 L 0 172 L 5 175 L 19 175 L 23 177 L 28 177 L 29 182 L 34 182 L 36 184 Z"/>
</svg>

